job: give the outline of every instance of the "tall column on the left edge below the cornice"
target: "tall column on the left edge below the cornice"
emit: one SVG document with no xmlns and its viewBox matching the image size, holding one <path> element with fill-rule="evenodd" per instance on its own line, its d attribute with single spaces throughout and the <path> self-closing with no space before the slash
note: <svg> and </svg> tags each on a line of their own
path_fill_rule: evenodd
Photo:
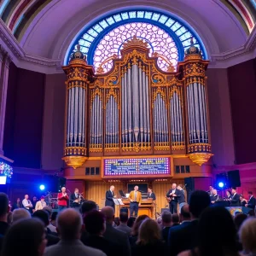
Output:
<svg viewBox="0 0 256 256">
<path fill-rule="evenodd" d="M 0 155 L 3 155 L 3 132 L 10 62 L 9 54 L 0 46 Z"/>
</svg>

